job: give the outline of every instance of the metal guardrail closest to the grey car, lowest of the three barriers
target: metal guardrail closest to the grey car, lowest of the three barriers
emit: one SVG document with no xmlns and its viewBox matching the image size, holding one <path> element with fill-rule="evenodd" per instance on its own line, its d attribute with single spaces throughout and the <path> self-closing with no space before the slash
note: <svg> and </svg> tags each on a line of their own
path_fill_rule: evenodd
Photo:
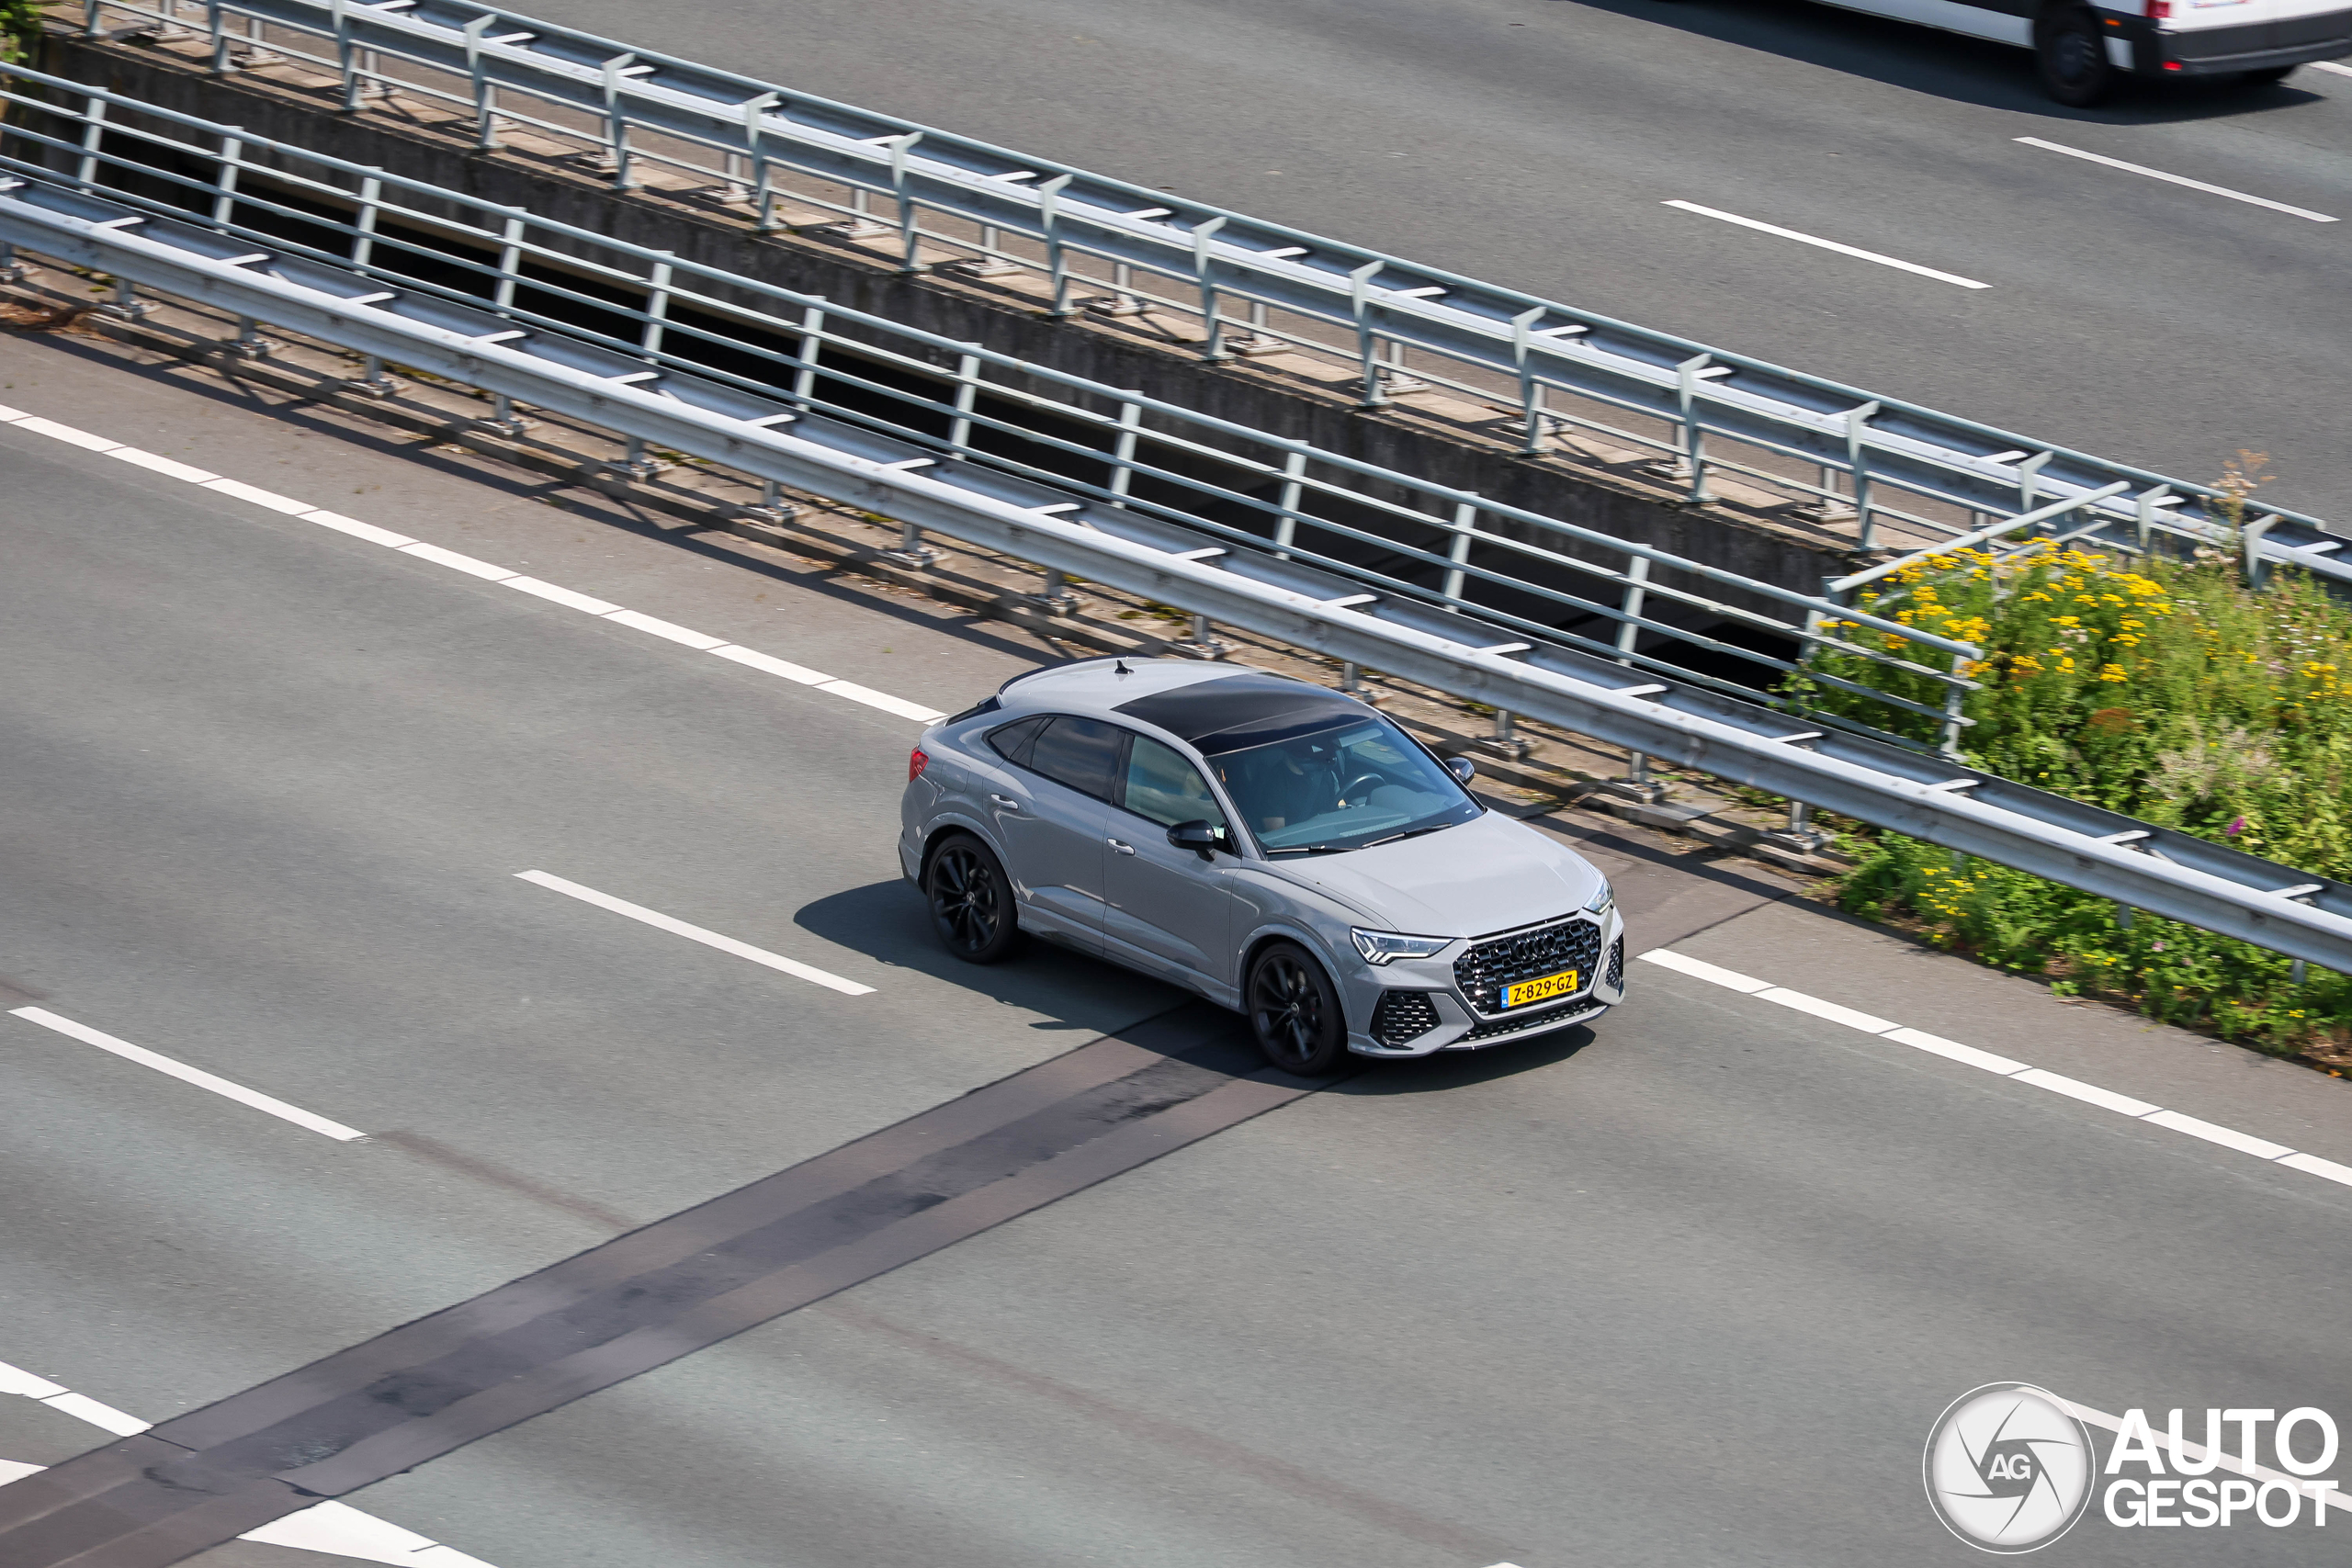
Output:
<svg viewBox="0 0 2352 1568">
<path fill-rule="evenodd" d="M 1465 616 L 1357 583 L 1268 541 L 1202 545 L 1202 531 L 1094 487 L 1047 484 L 884 435 L 790 397 L 755 397 L 649 369 L 576 336 L 513 327 L 492 308 L 386 289 L 353 268 L 238 252 L 191 223 L 42 181 L 0 190 L 0 240 L 118 280 L 282 324 L 501 397 L 656 442 L 741 473 L 873 508 L 1040 567 L 1216 616 L 1331 658 L 1844 811 L 2117 903 L 2352 969 L 2352 886 L 2310 879 L 2180 832 L 1957 769 L 1677 682 L 1611 656 L 1498 649 Z M 1470 632 L 1465 637 L 1465 632 Z"/>
</svg>

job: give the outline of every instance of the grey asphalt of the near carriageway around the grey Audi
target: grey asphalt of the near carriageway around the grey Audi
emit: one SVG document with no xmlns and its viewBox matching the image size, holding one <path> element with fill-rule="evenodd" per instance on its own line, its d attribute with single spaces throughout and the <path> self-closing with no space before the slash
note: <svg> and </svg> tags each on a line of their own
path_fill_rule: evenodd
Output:
<svg viewBox="0 0 2352 1568">
<path fill-rule="evenodd" d="M 0 343 L 0 402 L 924 708 L 1040 658 L 73 341 Z M 901 715 L 21 423 L 0 475 L 5 1006 L 367 1133 L 0 1016 L 0 1363 L 71 1389 L 0 1392 L 9 1474 L 113 1441 L 75 1399 L 186 1415 L 1178 1016 L 934 950 Z M 1637 950 L 2352 1164 L 2343 1084 L 1548 825 Z M 1879 1568 L 1976 1561 L 1919 1453 L 1983 1382 L 2352 1418 L 2352 1187 L 1632 971 L 1590 1032 L 1289 1098 L 348 1505 L 426 1568 Z"/>
</svg>

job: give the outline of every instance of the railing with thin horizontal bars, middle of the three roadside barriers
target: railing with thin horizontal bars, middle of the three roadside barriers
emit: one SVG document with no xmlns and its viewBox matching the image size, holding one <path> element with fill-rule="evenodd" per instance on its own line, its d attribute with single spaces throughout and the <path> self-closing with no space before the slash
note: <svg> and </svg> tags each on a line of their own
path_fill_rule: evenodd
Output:
<svg viewBox="0 0 2352 1568">
<path fill-rule="evenodd" d="M 1809 670 L 1879 703 L 1886 724 L 1907 717 L 1947 750 L 1969 724 L 1962 703 L 1978 682 L 1959 668 L 1978 649 L 1891 616 L 85 82 L 0 66 L 0 108 L 12 110 L 0 169 L 129 202 L 153 233 L 200 230 L 216 254 L 301 256 L 419 299 L 487 303 L 513 329 L 562 331 L 635 369 L 675 367 L 753 397 L 788 388 L 795 409 L 866 421 L 938 458 L 1089 484 L 1237 545 L 1270 541 L 1364 590 L 1475 616 L 1498 644 L 1606 651 L 1755 701 L 1773 701 L 1809 649 L 1832 646 L 1940 686 L 1940 703 L 1922 703 Z M 1870 635 L 1846 639 L 1844 623 Z"/>
</svg>

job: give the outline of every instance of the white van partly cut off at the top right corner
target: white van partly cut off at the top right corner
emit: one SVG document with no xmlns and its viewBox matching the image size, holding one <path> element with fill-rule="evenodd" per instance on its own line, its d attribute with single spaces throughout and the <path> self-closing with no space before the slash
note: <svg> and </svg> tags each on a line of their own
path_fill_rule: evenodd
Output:
<svg viewBox="0 0 2352 1568">
<path fill-rule="evenodd" d="M 2098 103 L 2124 73 L 2277 82 L 2314 59 L 2352 54 L 2343 0 L 1828 0 L 2032 49 L 2060 103 Z"/>
</svg>

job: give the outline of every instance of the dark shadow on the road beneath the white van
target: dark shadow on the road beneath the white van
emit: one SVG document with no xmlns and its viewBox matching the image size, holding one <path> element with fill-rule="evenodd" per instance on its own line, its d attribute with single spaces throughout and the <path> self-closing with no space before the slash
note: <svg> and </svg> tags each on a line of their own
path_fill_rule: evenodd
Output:
<svg viewBox="0 0 2352 1568">
<path fill-rule="evenodd" d="M 2171 125 L 2223 120 L 2324 103 L 2326 94 L 2286 82 L 2239 85 L 2225 78 L 2152 82 L 2122 78 L 2096 108 L 2067 108 L 2042 92 L 2034 56 L 2013 45 L 1943 33 L 1938 28 L 1865 16 L 1811 0 L 1552 0 L 1562 7 L 1613 12 L 1679 28 L 1743 49 L 1844 71 L 1955 103 L 2006 108 L 2049 120 L 2091 125 Z"/>
</svg>

